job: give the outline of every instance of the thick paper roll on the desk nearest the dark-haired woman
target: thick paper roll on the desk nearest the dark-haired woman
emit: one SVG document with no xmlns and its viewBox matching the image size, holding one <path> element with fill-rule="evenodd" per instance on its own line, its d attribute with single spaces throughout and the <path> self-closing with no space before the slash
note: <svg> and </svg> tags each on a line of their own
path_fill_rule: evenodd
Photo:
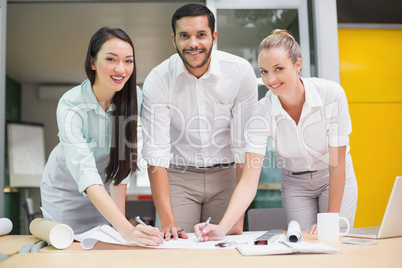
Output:
<svg viewBox="0 0 402 268">
<path fill-rule="evenodd" d="M 34 219 L 29 225 L 29 231 L 57 249 L 69 247 L 74 240 L 74 232 L 70 226 L 42 218 Z"/>
</svg>

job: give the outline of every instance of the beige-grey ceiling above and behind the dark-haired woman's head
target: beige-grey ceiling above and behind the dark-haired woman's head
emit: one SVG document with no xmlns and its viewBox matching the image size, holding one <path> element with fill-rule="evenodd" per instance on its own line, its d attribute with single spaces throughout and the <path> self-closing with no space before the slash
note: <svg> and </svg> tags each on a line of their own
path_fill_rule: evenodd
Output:
<svg viewBox="0 0 402 268">
<path fill-rule="evenodd" d="M 7 75 L 21 84 L 78 84 L 91 36 L 113 26 L 133 40 L 141 84 L 175 52 L 170 20 L 185 1 L 144 2 L 8 1 Z"/>
</svg>

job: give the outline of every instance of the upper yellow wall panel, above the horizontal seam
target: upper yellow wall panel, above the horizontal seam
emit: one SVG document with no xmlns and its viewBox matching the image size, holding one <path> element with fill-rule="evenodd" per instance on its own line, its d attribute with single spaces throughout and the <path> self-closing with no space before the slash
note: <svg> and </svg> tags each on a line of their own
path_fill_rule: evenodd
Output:
<svg viewBox="0 0 402 268">
<path fill-rule="evenodd" d="M 349 102 L 402 102 L 401 29 L 339 29 L 339 58 Z"/>
</svg>

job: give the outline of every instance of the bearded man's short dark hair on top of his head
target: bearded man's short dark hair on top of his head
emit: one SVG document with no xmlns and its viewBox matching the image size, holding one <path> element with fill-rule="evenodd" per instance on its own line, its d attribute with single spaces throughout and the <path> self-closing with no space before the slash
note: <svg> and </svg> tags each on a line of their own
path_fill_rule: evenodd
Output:
<svg viewBox="0 0 402 268">
<path fill-rule="evenodd" d="M 211 33 L 215 32 L 215 16 L 209 8 L 201 4 L 187 4 L 179 9 L 172 16 L 172 30 L 173 34 L 176 35 L 176 22 L 184 17 L 198 17 L 207 16 L 208 25 L 211 29 Z"/>
</svg>

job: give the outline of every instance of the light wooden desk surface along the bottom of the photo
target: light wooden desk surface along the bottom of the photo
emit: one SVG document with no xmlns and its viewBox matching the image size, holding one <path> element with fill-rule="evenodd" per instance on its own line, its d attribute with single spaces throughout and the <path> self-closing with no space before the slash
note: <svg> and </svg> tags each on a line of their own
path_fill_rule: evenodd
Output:
<svg viewBox="0 0 402 268">
<path fill-rule="evenodd" d="M 303 233 L 308 242 L 317 236 Z M 0 240 L 1 242 L 1 240 Z M 171 250 L 121 247 L 115 250 L 45 251 L 16 254 L 0 263 L 3 267 L 402 267 L 402 237 L 378 240 L 377 245 L 357 246 L 340 241 L 326 241 L 339 248 L 341 254 L 305 254 L 275 256 L 242 256 L 236 249 Z"/>
</svg>

